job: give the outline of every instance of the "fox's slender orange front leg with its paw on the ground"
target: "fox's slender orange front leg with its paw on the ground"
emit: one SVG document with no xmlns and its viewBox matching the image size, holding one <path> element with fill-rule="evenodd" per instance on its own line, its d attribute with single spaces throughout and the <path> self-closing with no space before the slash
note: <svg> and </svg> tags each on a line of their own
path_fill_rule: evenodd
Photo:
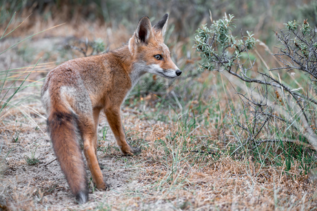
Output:
<svg viewBox="0 0 317 211">
<path fill-rule="evenodd" d="M 132 148 L 132 146 L 125 140 L 125 132 L 121 122 L 120 106 L 118 108 L 106 108 L 105 116 L 107 117 L 110 128 L 114 133 L 116 143 L 118 143 L 123 154 L 136 154 L 141 152 L 139 148 Z"/>
</svg>

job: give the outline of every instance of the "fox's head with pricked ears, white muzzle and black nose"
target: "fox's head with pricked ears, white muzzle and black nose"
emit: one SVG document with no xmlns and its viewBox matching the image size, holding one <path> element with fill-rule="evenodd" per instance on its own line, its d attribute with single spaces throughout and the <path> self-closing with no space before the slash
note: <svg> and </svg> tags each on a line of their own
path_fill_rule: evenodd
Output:
<svg viewBox="0 0 317 211">
<path fill-rule="evenodd" d="M 134 58 L 134 71 L 138 74 L 150 72 L 167 79 L 181 75 L 181 70 L 171 59 L 170 50 L 164 44 L 168 14 L 153 27 L 148 17 L 140 19 L 138 27 L 129 41 L 129 50 Z"/>
</svg>

